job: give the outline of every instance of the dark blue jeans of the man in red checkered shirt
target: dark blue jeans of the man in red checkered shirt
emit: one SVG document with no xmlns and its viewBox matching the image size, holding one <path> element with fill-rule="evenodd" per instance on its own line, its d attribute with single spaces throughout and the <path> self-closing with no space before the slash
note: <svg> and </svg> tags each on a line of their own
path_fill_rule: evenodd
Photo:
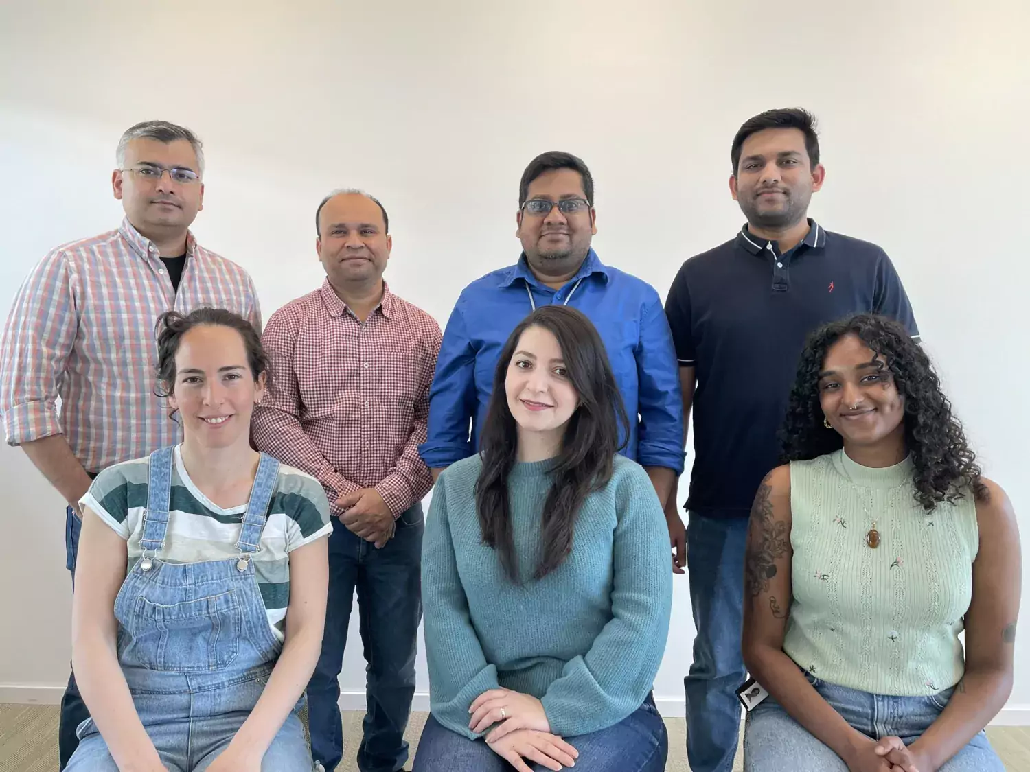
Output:
<svg viewBox="0 0 1030 772">
<path fill-rule="evenodd" d="M 421 503 L 397 520 L 381 550 L 333 518 L 329 539 L 329 606 L 321 656 L 308 682 L 311 755 L 332 772 L 343 758 L 340 669 L 357 590 L 368 711 L 357 748 L 362 772 L 397 772 L 408 759 L 404 730 L 415 695 L 415 648 L 422 618 Z"/>
</svg>

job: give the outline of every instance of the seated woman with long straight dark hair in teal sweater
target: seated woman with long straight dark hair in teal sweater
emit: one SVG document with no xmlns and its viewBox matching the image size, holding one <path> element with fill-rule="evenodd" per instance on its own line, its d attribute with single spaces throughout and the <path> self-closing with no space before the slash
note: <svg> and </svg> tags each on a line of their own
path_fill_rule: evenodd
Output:
<svg viewBox="0 0 1030 772">
<path fill-rule="evenodd" d="M 545 306 L 515 328 L 480 453 L 440 476 L 426 518 L 415 772 L 664 770 L 650 693 L 668 533 L 647 472 L 617 455 L 626 426 L 582 313 Z"/>
</svg>

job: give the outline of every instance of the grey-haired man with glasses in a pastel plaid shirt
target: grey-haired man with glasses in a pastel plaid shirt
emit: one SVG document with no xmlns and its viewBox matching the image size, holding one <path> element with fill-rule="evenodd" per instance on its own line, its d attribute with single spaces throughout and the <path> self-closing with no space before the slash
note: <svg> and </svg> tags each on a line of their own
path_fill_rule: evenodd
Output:
<svg viewBox="0 0 1030 772">
<path fill-rule="evenodd" d="M 261 327 L 246 271 L 190 233 L 204 201 L 200 140 L 175 124 L 148 120 L 122 135 L 115 156 L 111 184 L 125 209 L 122 225 L 47 254 L 15 295 L 0 343 L 7 443 L 21 446 L 68 502 L 73 575 L 78 499 L 92 478 L 181 440 L 165 400 L 153 395 L 158 316 L 209 305 Z M 72 675 L 61 703 L 61 769 L 88 717 Z"/>
</svg>

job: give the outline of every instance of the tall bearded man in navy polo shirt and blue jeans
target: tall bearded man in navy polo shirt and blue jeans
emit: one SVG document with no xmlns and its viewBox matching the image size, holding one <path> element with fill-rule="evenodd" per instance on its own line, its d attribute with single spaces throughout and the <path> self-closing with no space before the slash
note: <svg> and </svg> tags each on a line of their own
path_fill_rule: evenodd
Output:
<svg viewBox="0 0 1030 772">
<path fill-rule="evenodd" d="M 823 184 L 815 120 L 770 110 L 733 138 L 729 190 L 748 223 L 683 264 L 665 302 L 680 363 L 684 417 L 694 409 L 687 570 L 697 637 L 684 679 L 694 772 L 730 772 L 745 679 L 741 657 L 748 514 L 778 463 L 804 339 L 857 312 L 893 317 L 918 337 L 890 258 L 806 217 Z M 676 492 L 666 518 L 679 517 Z"/>
</svg>

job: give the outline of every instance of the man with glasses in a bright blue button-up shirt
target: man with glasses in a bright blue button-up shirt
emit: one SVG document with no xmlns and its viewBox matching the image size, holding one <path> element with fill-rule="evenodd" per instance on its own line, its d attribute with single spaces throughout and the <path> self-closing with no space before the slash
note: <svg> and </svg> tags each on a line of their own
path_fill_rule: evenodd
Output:
<svg viewBox="0 0 1030 772">
<path fill-rule="evenodd" d="M 593 179 L 575 155 L 546 152 L 529 164 L 519 185 L 516 222 L 523 250 L 518 262 L 466 287 L 447 322 L 430 392 L 428 437 L 419 449 L 422 460 L 436 479 L 478 451 L 502 346 L 535 309 L 560 303 L 596 325 L 630 417 L 622 452 L 648 470 L 664 504 L 683 470 L 683 407 L 658 293 L 603 265 L 590 248 L 597 233 Z M 680 524 L 678 516 L 674 521 Z M 682 538 L 674 543 L 682 565 Z"/>
</svg>

